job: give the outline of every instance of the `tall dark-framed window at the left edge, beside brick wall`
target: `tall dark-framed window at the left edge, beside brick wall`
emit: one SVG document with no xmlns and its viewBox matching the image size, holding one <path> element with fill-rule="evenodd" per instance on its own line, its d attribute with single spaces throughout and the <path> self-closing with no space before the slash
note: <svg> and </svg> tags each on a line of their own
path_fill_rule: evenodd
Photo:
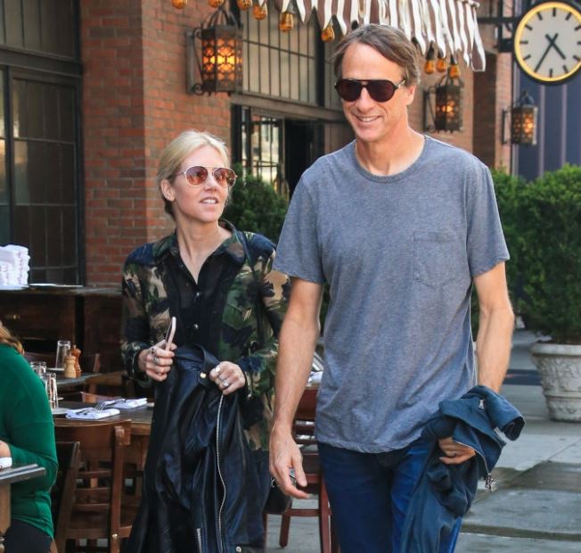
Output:
<svg viewBox="0 0 581 553">
<path fill-rule="evenodd" d="M 31 282 L 82 280 L 75 5 L 0 0 L 0 245 L 29 248 Z"/>
</svg>

